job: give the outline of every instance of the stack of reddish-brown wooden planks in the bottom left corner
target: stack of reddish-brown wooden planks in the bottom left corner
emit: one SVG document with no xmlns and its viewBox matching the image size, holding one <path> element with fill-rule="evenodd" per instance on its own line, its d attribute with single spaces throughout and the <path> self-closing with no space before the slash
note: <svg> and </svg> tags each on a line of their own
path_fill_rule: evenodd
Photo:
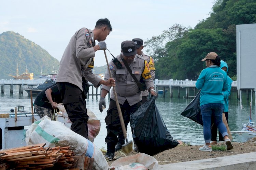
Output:
<svg viewBox="0 0 256 170">
<path fill-rule="evenodd" d="M 0 170 L 76 169 L 77 157 L 69 146 L 44 148 L 45 143 L 0 151 Z"/>
</svg>

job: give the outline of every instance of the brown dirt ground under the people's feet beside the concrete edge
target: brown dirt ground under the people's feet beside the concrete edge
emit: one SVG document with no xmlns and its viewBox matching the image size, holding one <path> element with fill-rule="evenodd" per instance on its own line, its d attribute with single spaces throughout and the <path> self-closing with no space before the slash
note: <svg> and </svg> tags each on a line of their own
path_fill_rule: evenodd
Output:
<svg viewBox="0 0 256 170">
<path fill-rule="evenodd" d="M 218 143 L 217 146 L 221 146 L 223 144 L 224 142 Z M 234 146 L 232 150 L 212 151 L 212 152 L 199 151 L 199 147 L 201 146 L 198 146 L 198 145 L 179 144 L 175 148 L 158 153 L 153 157 L 156 158 L 159 165 L 162 165 L 162 164 L 171 164 L 171 163 L 178 163 L 178 162 L 184 162 L 184 161 L 192 161 L 192 160 L 199 160 L 199 159 L 207 159 L 207 158 L 215 158 L 215 157 L 221 157 L 221 156 L 230 156 L 230 155 L 256 152 L 256 137 L 244 143 L 232 142 L 232 144 Z M 135 154 L 137 154 L 137 152 L 132 151 L 127 156 L 135 155 Z M 125 156 L 122 152 L 115 152 L 114 160 L 122 156 Z M 109 165 L 111 165 L 111 163 L 114 160 L 108 161 Z"/>
</svg>

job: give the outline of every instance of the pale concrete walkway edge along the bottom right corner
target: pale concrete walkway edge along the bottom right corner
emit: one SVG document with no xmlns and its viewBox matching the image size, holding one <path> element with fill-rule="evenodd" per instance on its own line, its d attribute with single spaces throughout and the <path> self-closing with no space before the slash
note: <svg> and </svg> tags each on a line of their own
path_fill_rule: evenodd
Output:
<svg viewBox="0 0 256 170">
<path fill-rule="evenodd" d="M 256 170 L 256 152 L 159 165 L 159 170 Z"/>
</svg>

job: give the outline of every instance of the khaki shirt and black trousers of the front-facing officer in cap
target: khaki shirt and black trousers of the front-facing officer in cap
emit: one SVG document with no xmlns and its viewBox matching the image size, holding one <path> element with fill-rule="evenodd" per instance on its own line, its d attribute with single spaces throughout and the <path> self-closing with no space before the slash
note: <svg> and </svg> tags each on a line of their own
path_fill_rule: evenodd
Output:
<svg viewBox="0 0 256 170">
<path fill-rule="evenodd" d="M 113 61 L 109 63 L 109 66 L 111 75 L 115 79 L 115 91 L 117 93 L 117 99 L 120 104 L 127 129 L 130 114 L 136 111 L 137 108 L 141 105 L 142 96 L 139 87 L 137 86 L 136 82 L 122 61 L 122 54 L 118 55 L 116 58 L 122 64 L 122 68 L 118 69 Z M 143 57 L 136 55 L 134 60 L 130 63 L 130 68 L 138 80 L 140 80 L 140 77 L 143 78 L 148 89 L 150 87 L 154 87 L 154 82 L 150 74 L 150 68 L 147 64 L 147 61 L 143 59 Z M 109 72 L 106 71 L 105 80 L 109 78 Z M 101 89 L 110 91 L 111 87 L 103 85 Z M 109 109 L 105 118 L 106 128 L 108 131 L 105 142 L 108 144 L 108 149 L 110 144 L 112 145 L 111 147 L 115 147 L 116 143 L 118 142 L 117 135 L 119 132 L 122 132 L 113 90 L 111 91 L 110 99 L 111 101 Z"/>
</svg>

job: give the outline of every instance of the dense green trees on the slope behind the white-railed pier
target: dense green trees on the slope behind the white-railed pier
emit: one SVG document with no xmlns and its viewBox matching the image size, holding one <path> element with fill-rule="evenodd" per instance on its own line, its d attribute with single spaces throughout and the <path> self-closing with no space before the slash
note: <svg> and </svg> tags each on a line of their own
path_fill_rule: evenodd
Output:
<svg viewBox="0 0 256 170">
<path fill-rule="evenodd" d="M 236 25 L 256 23 L 256 0 L 216 0 L 210 16 L 194 29 L 174 24 L 161 35 L 145 41 L 155 61 L 156 78 L 196 80 L 205 68 L 207 53 L 216 52 L 236 80 Z"/>
</svg>

